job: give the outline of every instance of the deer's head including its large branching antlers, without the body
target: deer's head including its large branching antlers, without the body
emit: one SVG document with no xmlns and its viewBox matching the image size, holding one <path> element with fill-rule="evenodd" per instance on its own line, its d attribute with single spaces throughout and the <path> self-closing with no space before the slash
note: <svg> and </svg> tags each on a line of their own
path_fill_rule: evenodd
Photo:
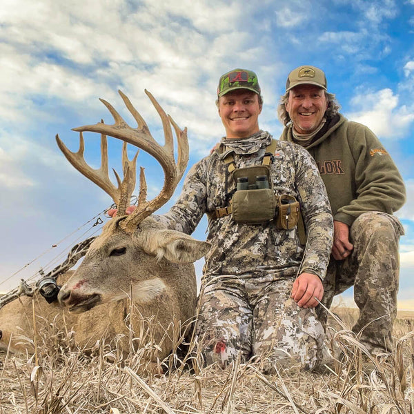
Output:
<svg viewBox="0 0 414 414">
<path fill-rule="evenodd" d="M 95 125 L 74 128 L 80 133 L 78 152 L 66 148 L 59 136 L 57 144 L 70 164 L 81 174 L 101 187 L 117 204 L 118 214 L 103 226 L 102 234 L 91 244 L 81 266 L 69 281 L 62 286 L 59 302 L 75 311 L 86 311 L 96 304 L 121 299 L 132 291 L 132 297 L 140 302 L 150 302 L 167 290 L 186 289 L 188 280 L 195 283 L 193 266 L 188 263 L 203 257 L 210 244 L 199 242 L 175 230 L 163 228 L 149 217 L 170 199 L 188 163 L 188 140 L 186 128 L 181 130 L 175 121 L 159 106 L 154 97 L 145 91 L 161 117 L 165 144 L 160 146 L 150 135 L 144 119 L 132 106 L 124 93 L 119 91 L 126 107 L 137 121 L 137 128 L 131 128 L 110 103 L 101 99 L 108 108 L 115 124 L 100 122 Z M 178 157 L 175 162 L 172 128 L 177 137 Z M 86 164 L 83 157 L 83 132 L 101 134 L 101 167 L 97 170 Z M 117 186 L 108 175 L 107 135 L 124 141 L 122 164 L 124 178 L 117 172 Z M 138 206 L 131 215 L 126 215 L 130 196 L 135 188 L 137 154 L 128 159 L 126 145 L 132 144 L 148 152 L 159 161 L 164 170 L 164 186 L 161 193 L 151 201 L 146 200 L 147 186 L 144 169 L 141 168 Z M 184 266 L 184 267 L 183 267 Z M 184 294 L 185 296 L 185 294 Z"/>
</svg>

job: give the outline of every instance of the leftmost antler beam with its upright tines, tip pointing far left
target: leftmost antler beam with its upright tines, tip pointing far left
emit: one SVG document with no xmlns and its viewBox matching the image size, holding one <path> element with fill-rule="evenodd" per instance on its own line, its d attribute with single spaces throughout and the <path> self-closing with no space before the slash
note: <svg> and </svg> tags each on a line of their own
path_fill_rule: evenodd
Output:
<svg viewBox="0 0 414 414">
<path fill-rule="evenodd" d="M 86 164 L 86 161 L 83 157 L 83 152 L 85 150 L 85 142 L 83 140 L 83 134 L 79 134 L 79 150 L 77 152 L 70 151 L 63 141 L 59 138 L 59 135 L 56 135 L 57 145 L 59 146 L 63 155 L 66 159 L 74 166 L 82 175 L 90 179 L 90 181 L 97 184 L 105 191 L 110 197 L 115 201 L 116 204 L 119 203 L 120 188 L 115 187 L 109 179 L 108 175 L 108 150 L 106 143 L 106 136 L 101 135 L 101 167 L 95 170 Z"/>
</svg>

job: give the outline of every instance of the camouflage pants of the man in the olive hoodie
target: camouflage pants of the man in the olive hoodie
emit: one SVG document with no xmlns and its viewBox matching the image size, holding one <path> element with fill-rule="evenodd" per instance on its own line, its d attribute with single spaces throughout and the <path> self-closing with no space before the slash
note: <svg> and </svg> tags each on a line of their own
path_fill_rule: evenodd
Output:
<svg viewBox="0 0 414 414">
<path fill-rule="evenodd" d="M 359 319 L 353 332 L 362 330 L 360 341 L 373 354 L 393 349 L 400 270 L 398 245 L 402 234 L 400 221 L 391 215 L 380 212 L 360 215 L 350 230 L 353 252 L 344 260 L 331 257 L 324 280 L 322 303 L 327 308 L 335 295 L 354 286 Z M 320 306 L 317 313 L 326 325 L 327 315 Z"/>
</svg>

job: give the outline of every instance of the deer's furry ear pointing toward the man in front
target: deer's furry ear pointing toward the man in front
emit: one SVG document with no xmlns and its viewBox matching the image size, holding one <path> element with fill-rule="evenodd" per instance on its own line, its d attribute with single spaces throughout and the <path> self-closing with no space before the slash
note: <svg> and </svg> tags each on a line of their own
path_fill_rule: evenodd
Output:
<svg viewBox="0 0 414 414">
<path fill-rule="evenodd" d="M 161 230 L 151 250 L 157 259 L 164 257 L 172 263 L 193 263 L 206 255 L 210 246 L 179 231 Z"/>
</svg>

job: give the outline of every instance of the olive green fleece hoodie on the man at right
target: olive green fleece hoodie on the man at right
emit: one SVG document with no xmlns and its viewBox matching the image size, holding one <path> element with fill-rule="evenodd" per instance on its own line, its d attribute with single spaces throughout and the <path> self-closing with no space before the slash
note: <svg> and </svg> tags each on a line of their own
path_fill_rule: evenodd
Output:
<svg viewBox="0 0 414 414">
<path fill-rule="evenodd" d="M 292 126 L 282 141 L 293 141 Z M 315 159 L 328 192 L 334 220 L 348 226 L 362 213 L 393 214 L 405 201 L 400 172 L 373 132 L 343 115 L 328 119 L 305 147 Z"/>
</svg>

